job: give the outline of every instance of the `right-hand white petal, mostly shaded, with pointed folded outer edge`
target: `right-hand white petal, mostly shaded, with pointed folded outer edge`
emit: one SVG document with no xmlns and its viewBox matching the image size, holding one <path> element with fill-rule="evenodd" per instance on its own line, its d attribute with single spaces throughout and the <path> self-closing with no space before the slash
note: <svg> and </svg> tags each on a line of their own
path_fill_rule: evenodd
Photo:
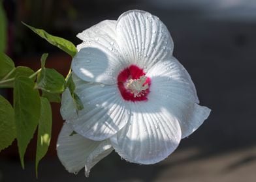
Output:
<svg viewBox="0 0 256 182">
<path fill-rule="evenodd" d="M 182 138 L 191 135 L 210 114 L 210 109 L 198 105 L 195 86 L 185 68 L 172 59 L 159 62 L 147 75 L 152 79 L 148 99 L 157 98 L 178 118 Z"/>
</svg>

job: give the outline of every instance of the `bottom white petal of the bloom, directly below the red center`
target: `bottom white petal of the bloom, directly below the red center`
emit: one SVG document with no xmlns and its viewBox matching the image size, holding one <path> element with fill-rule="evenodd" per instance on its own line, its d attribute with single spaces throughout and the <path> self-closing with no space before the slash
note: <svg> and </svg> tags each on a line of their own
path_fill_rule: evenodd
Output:
<svg viewBox="0 0 256 182">
<path fill-rule="evenodd" d="M 133 103 L 131 123 L 110 138 L 118 154 L 129 162 L 154 164 L 178 146 L 180 125 L 157 100 Z"/>
</svg>

